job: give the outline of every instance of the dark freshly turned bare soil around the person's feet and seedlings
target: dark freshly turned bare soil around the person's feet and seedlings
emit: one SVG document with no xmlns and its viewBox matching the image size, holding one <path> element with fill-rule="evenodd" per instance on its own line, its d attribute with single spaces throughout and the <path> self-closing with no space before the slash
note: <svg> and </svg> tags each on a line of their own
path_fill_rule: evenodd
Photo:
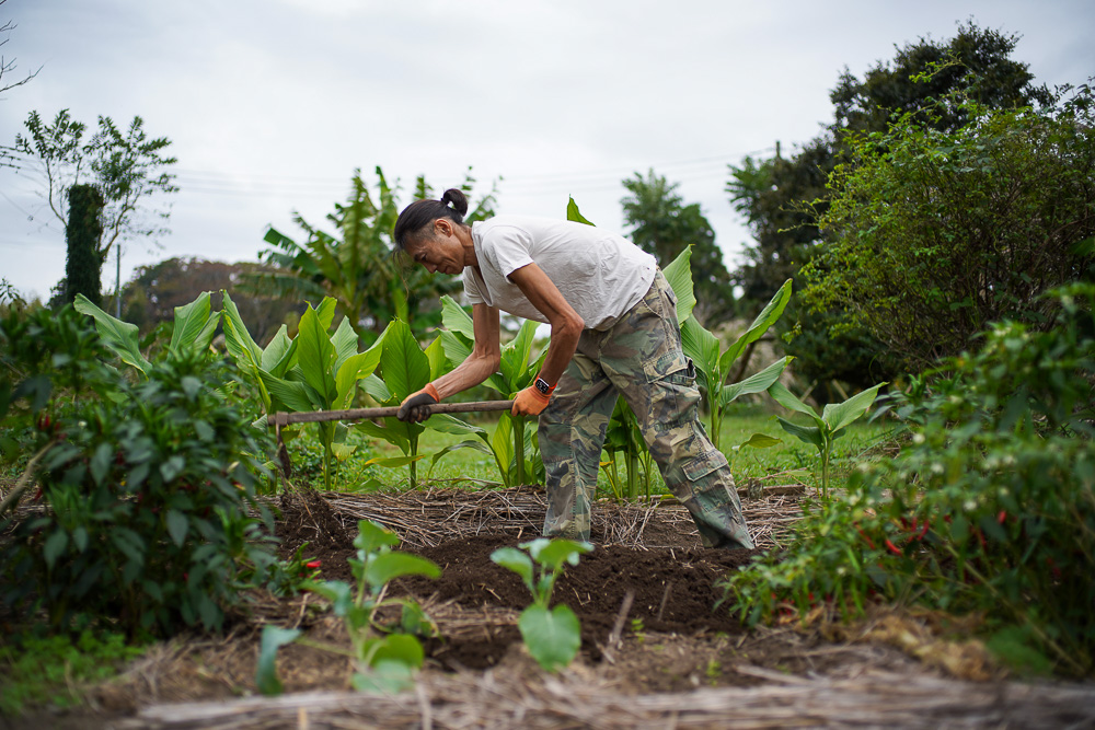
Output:
<svg viewBox="0 0 1095 730">
<path fill-rule="evenodd" d="M 347 563 L 355 554 L 353 541 L 324 499 L 302 493 L 283 501 L 277 528 L 284 553 L 291 554 L 307 542 L 304 554 L 321 561 L 323 579 L 353 579 Z M 521 542 L 509 533 L 487 533 L 458 537 L 435 547 L 404 546 L 402 549 L 440 566 L 441 576 L 396 580 L 389 595 L 410 595 L 420 602 L 429 599 L 470 611 L 520 612 L 531 602 L 529 590 L 516 573 L 494 564 L 491 554 Z M 602 647 L 629 592 L 632 604 L 622 619 L 629 631 L 681 636 L 742 633 L 742 626 L 728 611 L 715 609 L 723 594 L 715 583 L 748 563 L 754 552 L 695 547 L 694 540 L 685 534 L 679 536 L 679 547 L 598 545 L 577 566 L 566 567 L 555 586 L 553 602 L 565 603 L 577 614 L 583 650 L 591 661 L 601 660 Z M 485 626 L 471 636 L 430 641 L 427 652 L 447 669 L 484 669 L 497 664 L 520 641 L 516 626 Z"/>
</svg>

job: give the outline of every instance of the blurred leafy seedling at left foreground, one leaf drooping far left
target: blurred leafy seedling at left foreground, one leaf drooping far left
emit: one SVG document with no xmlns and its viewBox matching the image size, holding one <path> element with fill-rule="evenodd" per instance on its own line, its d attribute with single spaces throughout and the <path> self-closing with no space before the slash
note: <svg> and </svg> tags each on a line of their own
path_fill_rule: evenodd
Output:
<svg viewBox="0 0 1095 730">
<path fill-rule="evenodd" d="M 341 580 L 306 582 L 303 589 L 322 595 L 331 602 L 336 616 L 343 618 L 349 635 L 355 673 L 351 684 L 361 692 L 397 693 L 414 686 L 414 672 L 422 667 L 425 652 L 417 636 L 434 636 L 436 627 L 415 601 L 384 599 L 390 581 L 401 576 L 441 575 L 436 564 L 416 555 L 392 548 L 400 538 L 382 525 L 361 520 L 354 540 L 357 558 L 350 558 L 355 584 Z M 382 625 L 377 619 L 384 606 L 401 606 L 402 614 L 395 625 Z M 300 629 L 266 626 L 263 629 L 262 650 L 255 683 L 265 695 L 281 693 L 281 681 L 275 665 L 277 650 L 298 641 L 307 646 L 346 654 L 345 649 L 301 639 Z"/>
</svg>

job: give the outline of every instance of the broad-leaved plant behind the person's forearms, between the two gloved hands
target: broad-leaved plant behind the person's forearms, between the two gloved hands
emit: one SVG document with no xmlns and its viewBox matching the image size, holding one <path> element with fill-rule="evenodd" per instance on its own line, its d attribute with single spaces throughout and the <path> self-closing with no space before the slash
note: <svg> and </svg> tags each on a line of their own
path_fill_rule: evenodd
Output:
<svg viewBox="0 0 1095 730">
<path fill-rule="evenodd" d="M 451 297 L 441 298 L 441 322 L 446 329 L 441 331 L 438 340 L 448 362 L 454 367 L 471 355 L 475 339 L 474 324 L 471 315 Z M 539 326 L 539 322 L 526 321 L 517 336 L 503 346 L 502 363 L 498 372 L 487 378 L 487 387 L 511 398 L 532 383 L 548 354 L 544 348 L 537 358 L 532 357 Z M 451 417 L 434 416 L 426 422 L 435 430 L 475 437 L 439 451 L 434 456 L 435 464 L 457 449 L 475 449 L 495 460 L 507 487 L 527 484 L 530 477 L 538 482 L 543 478 L 543 462 L 540 461 L 534 438 L 535 419 L 503 413 L 493 432 Z"/>
</svg>

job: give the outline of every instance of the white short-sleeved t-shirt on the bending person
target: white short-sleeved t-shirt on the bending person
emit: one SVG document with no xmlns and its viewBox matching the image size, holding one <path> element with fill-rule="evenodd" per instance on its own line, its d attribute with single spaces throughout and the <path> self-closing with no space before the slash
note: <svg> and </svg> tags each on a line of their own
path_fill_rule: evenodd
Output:
<svg viewBox="0 0 1095 730">
<path fill-rule="evenodd" d="M 621 235 L 551 218 L 496 216 L 472 223 L 479 269 L 464 267 L 464 293 L 526 320 L 548 322 L 509 275 L 535 263 L 586 323 L 608 329 L 650 289 L 658 263 Z"/>
</svg>

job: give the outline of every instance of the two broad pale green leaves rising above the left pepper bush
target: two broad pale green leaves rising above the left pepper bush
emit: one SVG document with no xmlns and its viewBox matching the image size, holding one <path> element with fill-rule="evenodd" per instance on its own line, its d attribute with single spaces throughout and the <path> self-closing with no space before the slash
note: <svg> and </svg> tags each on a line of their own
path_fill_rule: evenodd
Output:
<svg viewBox="0 0 1095 730">
<path fill-rule="evenodd" d="M 210 293 L 204 291 L 189 304 L 175 308 L 175 321 L 171 331 L 171 343 L 168 351 L 180 355 L 184 351 L 207 352 L 212 337 L 217 333 L 219 314 L 211 311 Z M 140 334 L 137 325 L 117 320 L 83 294 L 77 294 L 73 306 L 77 312 L 87 314 L 95 321 L 103 343 L 111 348 L 126 364 L 136 369 L 141 375 L 149 367 L 149 361 L 140 351 Z"/>
</svg>

